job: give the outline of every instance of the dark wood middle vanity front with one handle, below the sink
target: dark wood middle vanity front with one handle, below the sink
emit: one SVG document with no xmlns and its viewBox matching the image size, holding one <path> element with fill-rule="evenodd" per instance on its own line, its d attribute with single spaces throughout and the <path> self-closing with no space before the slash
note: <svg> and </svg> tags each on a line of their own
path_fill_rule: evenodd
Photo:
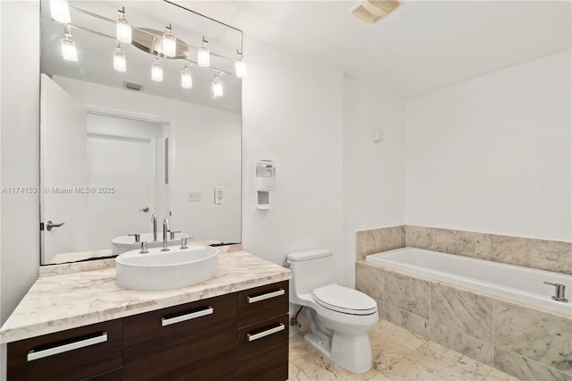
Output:
<svg viewBox="0 0 572 381">
<path fill-rule="evenodd" d="M 236 379 L 236 294 L 125 318 L 125 380 Z"/>
</svg>

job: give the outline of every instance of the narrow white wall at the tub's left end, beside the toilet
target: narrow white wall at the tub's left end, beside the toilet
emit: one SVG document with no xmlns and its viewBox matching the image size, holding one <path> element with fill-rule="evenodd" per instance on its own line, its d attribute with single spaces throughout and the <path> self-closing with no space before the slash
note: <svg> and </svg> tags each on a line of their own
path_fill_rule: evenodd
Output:
<svg viewBox="0 0 572 381">
<path fill-rule="evenodd" d="M 405 222 L 405 100 L 347 76 L 343 94 L 344 267 L 353 284 L 356 231 Z"/>
</svg>

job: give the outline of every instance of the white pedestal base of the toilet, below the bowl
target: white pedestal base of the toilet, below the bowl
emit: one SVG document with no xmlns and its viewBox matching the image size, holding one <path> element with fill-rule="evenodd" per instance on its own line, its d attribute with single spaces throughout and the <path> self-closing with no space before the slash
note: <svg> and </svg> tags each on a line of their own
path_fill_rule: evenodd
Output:
<svg viewBox="0 0 572 381">
<path fill-rule="evenodd" d="M 306 334 L 304 339 L 325 357 L 352 373 L 366 373 L 372 368 L 372 349 L 367 335 L 353 336 L 334 332 L 329 337 L 312 332 Z"/>
</svg>

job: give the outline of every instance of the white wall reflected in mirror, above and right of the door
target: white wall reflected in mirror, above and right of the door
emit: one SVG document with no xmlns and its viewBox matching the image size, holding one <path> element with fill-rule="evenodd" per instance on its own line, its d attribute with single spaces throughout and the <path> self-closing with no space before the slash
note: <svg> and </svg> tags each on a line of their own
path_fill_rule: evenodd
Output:
<svg viewBox="0 0 572 381">
<path fill-rule="evenodd" d="M 56 80 L 88 108 L 170 122 L 175 157 L 172 229 L 196 239 L 240 241 L 240 114 L 80 80 Z M 214 205 L 214 186 L 226 187 L 222 205 Z M 189 191 L 200 191 L 202 201 L 189 202 Z"/>
</svg>

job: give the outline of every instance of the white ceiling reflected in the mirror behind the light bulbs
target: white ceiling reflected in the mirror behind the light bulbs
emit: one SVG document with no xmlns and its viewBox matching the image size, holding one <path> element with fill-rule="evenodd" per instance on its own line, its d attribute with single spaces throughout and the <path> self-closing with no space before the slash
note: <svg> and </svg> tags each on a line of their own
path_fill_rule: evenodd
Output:
<svg viewBox="0 0 572 381">
<path fill-rule="evenodd" d="M 172 33 L 185 43 L 197 47 L 203 35 L 209 40 L 211 52 L 224 55 L 227 59 L 211 56 L 211 67 L 197 64 L 190 70 L 193 77 L 192 89 L 181 88 L 181 71 L 185 63 L 181 60 L 162 58 L 164 80 L 151 80 L 151 63 L 154 55 L 139 50 L 130 44 L 122 44 L 126 55 L 127 71 L 115 72 L 113 53 L 115 44 L 114 22 L 100 20 L 71 8 L 71 38 L 78 51 L 78 62 L 63 61 L 60 39 L 63 38 L 63 24 L 52 21 L 49 5 L 41 2 L 41 71 L 47 74 L 85 80 L 114 88 L 123 88 L 123 82 L 143 86 L 142 93 L 166 97 L 182 102 L 194 103 L 239 112 L 241 110 L 241 80 L 234 74 L 232 59 L 236 49 L 241 49 L 242 34 L 219 22 L 206 19 L 174 4 L 146 1 L 83 1 L 71 0 L 69 4 L 90 13 L 97 13 L 114 20 L 117 10 L 125 6 L 126 17 L 133 27 L 164 30 L 172 24 Z M 97 31 L 94 33 L 93 31 Z M 103 34 L 103 35 L 101 35 Z M 108 37 L 105 37 L 108 36 Z M 196 50 L 189 59 L 197 61 Z M 212 81 L 221 69 L 228 74 L 220 77 L 223 83 L 223 97 L 212 96 Z M 134 91 L 125 89 L 125 91 Z"/>
</svg>

